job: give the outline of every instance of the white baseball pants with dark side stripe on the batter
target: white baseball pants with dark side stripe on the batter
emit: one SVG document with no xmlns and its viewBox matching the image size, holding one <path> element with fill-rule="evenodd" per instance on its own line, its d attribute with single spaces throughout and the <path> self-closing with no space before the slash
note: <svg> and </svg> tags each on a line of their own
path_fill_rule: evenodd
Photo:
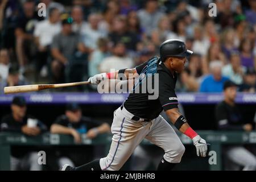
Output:
<svg viewBox="0 0 256 182">
<path fill-rule="evenodd" d="M 133 116 L 125 107 L 114 111 L 112 144 L 108 156 L 100 159 L 101 169 L 119 170 L 144 138 L 163 148 L 167 162 L 179 163 L 185 147 L 167 121 L 161 115 L 150 122 L 134 121 Z"/>
</svg>

